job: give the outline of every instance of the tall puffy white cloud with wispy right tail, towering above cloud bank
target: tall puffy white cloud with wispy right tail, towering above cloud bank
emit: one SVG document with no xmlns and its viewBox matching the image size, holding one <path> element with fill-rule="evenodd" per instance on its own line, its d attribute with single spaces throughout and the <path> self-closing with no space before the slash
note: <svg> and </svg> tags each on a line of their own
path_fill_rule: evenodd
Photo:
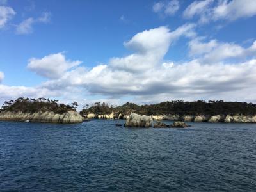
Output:
<svg viewBox="0 0 256 192">
<path fill-rule="evenodd" d="M 124 43 L 127 49 L 135 53 L 123 58 L 111 58 L 109 66 L 130 72 L 141 72 L 154 67 L 163 59 L 172 42 L 180 36 L 195 35 L 194 28 L 194 24 L 184 24 L 175 31 L 170 31 L 166 26 L 142 31 Z"/>
</svg>

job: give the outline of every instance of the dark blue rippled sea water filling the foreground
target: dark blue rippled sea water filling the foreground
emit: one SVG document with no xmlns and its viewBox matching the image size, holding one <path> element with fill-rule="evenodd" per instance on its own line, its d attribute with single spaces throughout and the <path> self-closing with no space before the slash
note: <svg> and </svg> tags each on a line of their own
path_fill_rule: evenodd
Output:
<svg viewBox="0 0 256 192">
<path fill-rule="evenodd" d="M 120 122 L 0 122 L 0 191 L 256 191 L 256 124 Z"/>
</svg>

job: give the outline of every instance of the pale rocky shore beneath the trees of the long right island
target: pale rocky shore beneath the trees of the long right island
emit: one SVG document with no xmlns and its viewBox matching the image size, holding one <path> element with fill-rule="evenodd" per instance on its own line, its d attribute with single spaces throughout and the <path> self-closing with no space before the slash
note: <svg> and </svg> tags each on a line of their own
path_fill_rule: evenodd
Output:
<svg viewBox="0 0 256 192">
<path fill-rule="evenodd" d="M 97 115 L 89 113 L 86 118 L 99 119 L 124 119 L 129 118 L 129 115 L 122 113 L 111 113 L 106 115 Z M 153 120 L 173 120 L 185 122 L 226 122 L 226 123 L 256 123 L 256 115 L 152 115 Z"/>
</svg>

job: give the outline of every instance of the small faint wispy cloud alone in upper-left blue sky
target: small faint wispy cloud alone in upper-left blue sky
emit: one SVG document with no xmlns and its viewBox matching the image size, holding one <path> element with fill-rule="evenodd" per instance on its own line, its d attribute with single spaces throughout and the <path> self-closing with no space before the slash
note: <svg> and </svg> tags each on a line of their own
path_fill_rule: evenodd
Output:
<svg viewBox="0 0 256 192">
<path fill-rule="evenodd" d="M 51 20 L 51 13 L 44 12 L 41 17 L 34 19 L 33 17 L 29 17 L 26 20 L 23 20 L 19 25 L 17 25 L 16 33 L 19 35 L 30 34 L 33 33 L 33 24 L 35 23 L 48 23 Z"/>
</svg>

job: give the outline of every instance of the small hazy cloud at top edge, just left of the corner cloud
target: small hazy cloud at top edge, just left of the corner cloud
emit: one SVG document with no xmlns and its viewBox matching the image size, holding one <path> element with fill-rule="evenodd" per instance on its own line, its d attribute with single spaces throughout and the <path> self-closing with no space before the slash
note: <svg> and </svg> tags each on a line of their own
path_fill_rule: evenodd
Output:
<svg viewBox="0 0 256 192">
<path fill-rule="evenodd" d="M 171 1 L 159 1 L 154 3 L 153 12 L 159 13 L 163 17 L 172 16 L 179 10 L 179 1 L 171 0 Z"/>
</svg>

